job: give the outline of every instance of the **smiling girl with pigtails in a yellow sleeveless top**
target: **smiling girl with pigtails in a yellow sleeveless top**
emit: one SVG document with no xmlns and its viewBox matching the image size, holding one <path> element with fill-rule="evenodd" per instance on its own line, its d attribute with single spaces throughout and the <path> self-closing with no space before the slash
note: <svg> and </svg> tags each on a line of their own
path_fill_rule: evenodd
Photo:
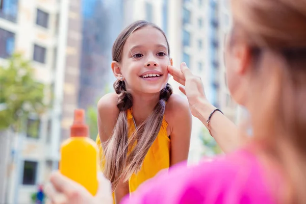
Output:
<svg viewBox="0 0 306 204">
<path fill-rule="evenodd" d="M 167 84 L 170 49 L 155 24 L 137 21 L 116 39 L 112 70 L 116 93 L 98 102 L 97 144 L 116 203 L 160 170 L 188 158 L 188 102 Z"/>
</svg>

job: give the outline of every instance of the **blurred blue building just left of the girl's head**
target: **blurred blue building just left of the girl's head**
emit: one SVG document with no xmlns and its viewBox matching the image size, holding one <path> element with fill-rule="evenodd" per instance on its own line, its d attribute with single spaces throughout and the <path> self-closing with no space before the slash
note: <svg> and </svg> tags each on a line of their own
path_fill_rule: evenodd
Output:
<svg viewBox="0 0 306 204">
<path fill-rule="evenodd" d="M 87 109 L 112 90 L 112 45 L 122 29 L 124 0 L 82 1 L 82 56 L 79 105 Z M 128 2 L 128 1 L 127 1 Z M 108 86 L 109 85 L 109 86 Z"/>
</svg>

